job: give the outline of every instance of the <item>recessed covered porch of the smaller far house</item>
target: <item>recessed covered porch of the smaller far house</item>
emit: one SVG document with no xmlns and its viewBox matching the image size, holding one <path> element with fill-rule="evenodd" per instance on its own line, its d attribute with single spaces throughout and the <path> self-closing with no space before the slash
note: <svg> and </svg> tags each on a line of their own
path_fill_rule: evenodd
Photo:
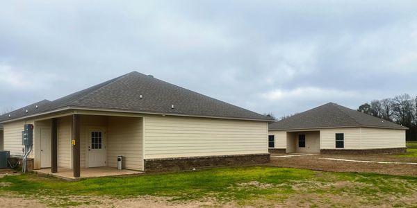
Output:
<svg viewBox="0 0 417 208">
<path fill-rule="evenodd" d="M 320 131 L 286 132 L 286 153 L 320 153 Z"/>
</svg>

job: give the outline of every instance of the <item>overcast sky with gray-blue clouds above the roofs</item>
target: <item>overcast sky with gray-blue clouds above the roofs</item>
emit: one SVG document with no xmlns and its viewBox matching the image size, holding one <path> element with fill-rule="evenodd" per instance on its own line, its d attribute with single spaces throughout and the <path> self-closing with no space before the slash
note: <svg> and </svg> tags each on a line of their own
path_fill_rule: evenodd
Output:
<svg viewBox="0 0 417 208">
<path fill-rule="evenodd" d="M 1 2 L 0 112 L 130 71 L 275 116 L 415 96 L 417 1 L 347 2 Z"/>
</svg>

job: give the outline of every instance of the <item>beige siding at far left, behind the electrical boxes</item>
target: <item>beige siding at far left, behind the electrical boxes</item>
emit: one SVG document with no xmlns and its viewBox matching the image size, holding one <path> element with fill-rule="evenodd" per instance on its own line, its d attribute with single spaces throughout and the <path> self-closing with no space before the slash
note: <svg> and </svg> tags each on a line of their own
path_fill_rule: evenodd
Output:
<svg viewBox="0 0 417 208">
<path fill-rule="evenodd" d="M 3 123 L 3 148 L 10 151 L 10 155 L 23 155 L 22 131 L 25 124 L 33 124 L 33 121 Z M 35 131 L 33 135 L 35 135 Z M 29 157 L 33 157 L 33 150 Z"/>
</svg>

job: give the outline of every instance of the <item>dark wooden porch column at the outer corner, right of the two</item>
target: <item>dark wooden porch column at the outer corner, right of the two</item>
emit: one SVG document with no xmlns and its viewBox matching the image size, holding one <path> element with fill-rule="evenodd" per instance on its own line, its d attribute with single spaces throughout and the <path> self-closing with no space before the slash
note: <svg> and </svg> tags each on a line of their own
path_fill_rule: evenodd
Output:
<svg viewBox="0 0 417 208">
<path fill-rule="evenodd" d="M 80 115 L 72 116 L 72 170 L 74 177 L 80 177 Z"/>
</svg>

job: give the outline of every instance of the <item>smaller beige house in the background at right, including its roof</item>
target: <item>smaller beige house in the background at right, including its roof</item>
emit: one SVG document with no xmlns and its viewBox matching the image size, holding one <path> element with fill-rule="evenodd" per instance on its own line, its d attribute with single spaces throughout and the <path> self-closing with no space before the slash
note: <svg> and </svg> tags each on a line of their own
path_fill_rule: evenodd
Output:
<svg viewBox="0 0 417 208">
<path fill-rule="evenodd" d="M 270 153 L 400 153 L 408 128 L 327 103 L 269 125 Z"/>
</svg>

